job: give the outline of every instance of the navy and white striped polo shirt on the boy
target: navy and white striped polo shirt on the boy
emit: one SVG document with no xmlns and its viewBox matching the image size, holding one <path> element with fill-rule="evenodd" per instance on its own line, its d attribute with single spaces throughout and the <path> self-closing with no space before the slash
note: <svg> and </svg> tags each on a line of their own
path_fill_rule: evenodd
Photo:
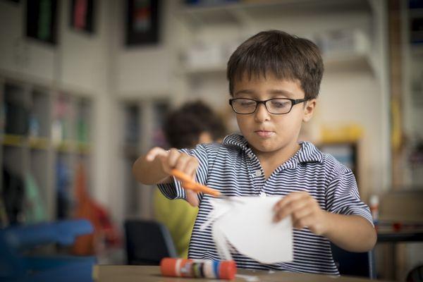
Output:
<svg viewBox="0 0 423 282">
<path fill-rule="evenodd" d="M 197 181 L 220 190 L 228 196 L 285 196 L 294 191 L 307 191 L 321 209 L 336 214 L 357 214 L 372 223 L 369 208 L 360 200 L 355 177 L 349 168 L 330 154 L 323 154 L 309 142 L 300 143 L 298 152 L 279 166 L 266 180 L 259 160 L 241 135 L 229 135 L 222 144 L 197 145 L 182 152 L 197 157 L 200 166 Z M 180 182 L 159 185 L 170 199 L 185 198 Z M 212 210 L 209 195 L 198 195 L 200 211 L 192 230 L 189 257 L 219 259 L 210 226 L 200 231 Z M 257 238 L 266 240 L 266 238 Z M 240 253 L 233 253 L 238 267 L 274 269 L 338 275 L 329 240 L 307 228 L 293 231 L 294 260 L 290 263 L 261 264 Z"/>
</svg>

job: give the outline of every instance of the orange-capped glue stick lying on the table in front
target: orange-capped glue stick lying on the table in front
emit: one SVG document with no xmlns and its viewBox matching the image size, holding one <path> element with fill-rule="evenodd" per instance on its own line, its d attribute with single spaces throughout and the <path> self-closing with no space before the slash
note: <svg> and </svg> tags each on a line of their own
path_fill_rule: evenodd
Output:
<svg viewBox="0 0 423 282">
<path fill-rule="evenodd" d="M 233 260 L 178 259 L 165 257 L 161 259 L 160 271 L 164 276 L 232 280 L 235 278 L 236 264 Z"/>
</svg>

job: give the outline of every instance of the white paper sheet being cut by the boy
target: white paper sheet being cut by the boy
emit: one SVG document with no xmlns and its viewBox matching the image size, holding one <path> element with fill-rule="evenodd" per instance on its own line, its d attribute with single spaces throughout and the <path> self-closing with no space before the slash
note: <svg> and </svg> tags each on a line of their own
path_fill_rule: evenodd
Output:
<svg viewBox="0 0 423 282">
<path fill-rule="evenodd" d="M 226 243 L 228 240 L 238 252 L 263 264 L 293 260 L 290 216 L 278 223 L 273 222 L 273 207 L 278 200 L 281 197 L 212 200 L 214 240 L 223 259 L 231 256 Z"/>
</svg>

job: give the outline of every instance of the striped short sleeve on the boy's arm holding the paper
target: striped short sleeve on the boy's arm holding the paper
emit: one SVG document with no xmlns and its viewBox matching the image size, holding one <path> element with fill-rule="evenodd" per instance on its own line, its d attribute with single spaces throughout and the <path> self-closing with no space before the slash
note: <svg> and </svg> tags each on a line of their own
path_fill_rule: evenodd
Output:
<svg viewBox="0 0 423 282">
<path fill-rule="evenodd" d="M 338 174 L 326 190 L 326 210 L 334 214 L 358 215 L 373 224 L 369 207 L 360 200 L 352 171 Z"/>
</svg>

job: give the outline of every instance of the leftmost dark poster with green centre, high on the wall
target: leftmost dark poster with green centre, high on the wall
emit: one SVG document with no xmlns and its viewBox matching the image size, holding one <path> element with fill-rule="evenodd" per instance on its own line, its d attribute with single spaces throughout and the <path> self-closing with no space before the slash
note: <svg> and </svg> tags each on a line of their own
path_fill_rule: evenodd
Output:
<svg viewBox="0 0 423 282">
<path fill-rule="evenodd" d="M 26 35 L 57 44 L 57 0 L 26 1 Z"/>
</svg>

